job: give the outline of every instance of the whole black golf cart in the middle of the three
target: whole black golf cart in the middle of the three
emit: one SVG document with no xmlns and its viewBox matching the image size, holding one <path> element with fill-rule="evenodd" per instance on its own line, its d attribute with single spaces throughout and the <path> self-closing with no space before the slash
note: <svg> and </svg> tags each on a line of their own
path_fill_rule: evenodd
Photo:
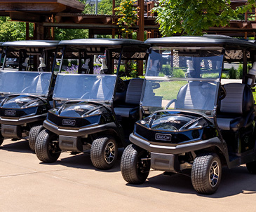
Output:
<svg viewBox="0 0 256 212">
<path fill-rule="evenodd" d="M 121 80 L 121 62 L 146 59 L 149 45 L 130 39 L 101 38 L 60 41 L 59 45 L 63 53 L 53 91 L 55 107 L 48 111 L 43 122 L 46 129 L 36 139 L 36 156 L 42 162 L 55 162 L 62 150 L 72 154 L 90 150 L 95 167 L 110 169 L 118 148 L 127 146 L 133 125 L 140 118 L 143 80 Z M 72 55 L 79 58 L 77 73 L 62 69 L 62 64 L 67 64 L 65 58 Z M 93 58 L 98 55 L 105 57 L 98 57 L 102 66 L 95 70 Z"/>
</svg>

